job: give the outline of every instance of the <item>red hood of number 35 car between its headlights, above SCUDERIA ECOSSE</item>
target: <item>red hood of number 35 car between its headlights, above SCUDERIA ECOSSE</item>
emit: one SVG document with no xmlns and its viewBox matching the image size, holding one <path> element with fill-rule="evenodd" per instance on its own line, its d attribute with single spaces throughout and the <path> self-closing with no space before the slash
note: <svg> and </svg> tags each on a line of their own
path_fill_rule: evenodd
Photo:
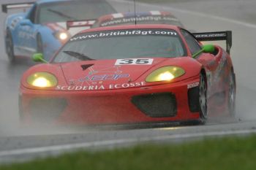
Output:
<svg viewBox="0 0 256 170">
<path fill-rule="evenodd" d="M 147 58 L 151 64 L 120 65 L 118 60 L 79 61 L 61 64 L 61 69 L 68 85 L 105 86 L 105 89 L 143 85 L 139 78 L 152 67 L 167 60 L 167 58 Z M 136 85 L 137 83 L 137 85 Z M 125 84 L 125 85 L 124 85 Z"/>
</svg>

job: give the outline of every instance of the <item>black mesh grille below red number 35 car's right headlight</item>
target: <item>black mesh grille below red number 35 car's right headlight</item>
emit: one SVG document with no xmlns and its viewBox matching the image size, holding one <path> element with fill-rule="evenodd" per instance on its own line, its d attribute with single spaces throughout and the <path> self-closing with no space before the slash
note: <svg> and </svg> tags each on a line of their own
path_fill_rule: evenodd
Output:
<svg viewBox="0 0 256 170">
<path fill-rule="evenodd" d="M 133 96 L 132 103 L 150 117 L 173 117 L 177 112 L 176 97 L 172 93 Z"/>
</svg>

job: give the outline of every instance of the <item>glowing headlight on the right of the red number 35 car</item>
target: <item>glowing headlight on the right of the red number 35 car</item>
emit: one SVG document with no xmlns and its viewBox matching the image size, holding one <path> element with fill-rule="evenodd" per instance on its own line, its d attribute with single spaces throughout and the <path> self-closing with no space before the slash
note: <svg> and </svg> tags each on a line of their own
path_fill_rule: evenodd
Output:
<svg viewBox="0 0 256 170">
<path fill-rule="evenodd" d="M 170 81 L 174 78 L 181 77 L 183 74 L 185 74 L 185 71 L 181 67 L 164 66 L 151 72 L 151 74 L 146 77 L 146 82 Z"/>
</svg>

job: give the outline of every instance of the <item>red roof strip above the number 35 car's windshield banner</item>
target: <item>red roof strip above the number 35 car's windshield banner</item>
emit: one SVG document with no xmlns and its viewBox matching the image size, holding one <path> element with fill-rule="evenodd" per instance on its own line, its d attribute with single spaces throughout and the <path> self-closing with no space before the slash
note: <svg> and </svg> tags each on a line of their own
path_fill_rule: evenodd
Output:
<svg viewBox="0 0 256 170">
<path fill-rule="evenodd" d="M 80 31 L 78 34 L 83 34 L 87 32 L 94 31 L 111 31 L 111 30 L 126 30 L 126 29 L 173 29 L 175 31 L 179 30 L 179 26 L 167 25 L 167 24 L 138 24 L 138 25 L 123 25 L 123 26 L 107 26 L 107 27 L 98 27 L 90 28 L 84 31 Z"/>
</svg>

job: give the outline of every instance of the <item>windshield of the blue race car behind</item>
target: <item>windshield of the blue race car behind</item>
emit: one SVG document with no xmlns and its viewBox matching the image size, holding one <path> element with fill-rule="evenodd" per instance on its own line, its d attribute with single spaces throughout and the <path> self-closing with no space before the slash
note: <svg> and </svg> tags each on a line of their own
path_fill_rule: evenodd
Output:
<svg viewBox="0 0 256 170">
<path fill-rule="evenodd" d="M 106 1 L 64 1 L 43 4 L 39 9 L 39 23 L 66 22 L 67 20 L 96 19 L 116 12 Z"/>
</svg>

